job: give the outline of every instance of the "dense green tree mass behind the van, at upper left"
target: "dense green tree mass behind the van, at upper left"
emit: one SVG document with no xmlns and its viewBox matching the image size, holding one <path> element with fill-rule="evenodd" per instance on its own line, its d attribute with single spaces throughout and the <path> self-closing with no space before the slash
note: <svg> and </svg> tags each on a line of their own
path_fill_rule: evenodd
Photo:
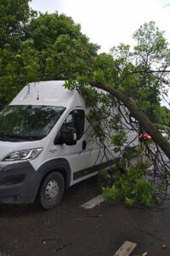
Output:
<svg viewBox="0 0 170 256">
<path fill-rule="evenodd" d="M 57 13 L 37 16 L 28 3 L 0 2 L 0 108 L 32 81 L 81 73 L 99 49 L 71 18 Z"/>
</svg>

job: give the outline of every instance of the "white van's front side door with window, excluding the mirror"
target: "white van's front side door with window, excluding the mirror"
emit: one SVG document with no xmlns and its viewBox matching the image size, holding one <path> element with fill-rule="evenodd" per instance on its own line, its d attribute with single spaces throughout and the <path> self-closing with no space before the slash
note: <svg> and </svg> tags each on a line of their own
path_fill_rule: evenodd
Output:
<svg viewBox="0 0 170 256">
<path fill-rule="evenodd" d="M 58 145 L 58 157 L 68 160 L 71 166 L 72 181 L 76 183 L 78 178 L 83 177 L 83 170 L 88 168 L 88 154 L 86 147 L 87 135 L 85 131 L 85 113 L 84 109 L 74 109 L 69 113 L 63 122 L 63 125 L 74 127 L 77 131 L 76 145 Z M 81 171 L 81 172 L 78 172 Z"/>
</svg>

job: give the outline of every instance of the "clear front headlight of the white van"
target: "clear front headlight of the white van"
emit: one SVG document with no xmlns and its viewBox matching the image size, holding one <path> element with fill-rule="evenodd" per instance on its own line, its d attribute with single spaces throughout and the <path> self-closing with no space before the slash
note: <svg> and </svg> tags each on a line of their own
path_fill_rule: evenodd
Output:
<svg viewBox="0 0 170 256">
<path fill-rule="evenodd" d="M 14 160 L 33 160 L 41 154 L 42 148 L 26 149 L 22 151 L 16 151 L 8 154 L 3 161 L 14 161 Z"/>
</svg>

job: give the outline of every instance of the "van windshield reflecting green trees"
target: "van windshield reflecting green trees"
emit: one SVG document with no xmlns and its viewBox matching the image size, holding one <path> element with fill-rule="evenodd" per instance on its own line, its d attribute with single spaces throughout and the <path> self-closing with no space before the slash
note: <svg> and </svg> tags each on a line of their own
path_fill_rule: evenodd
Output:
<svg viewBox="0 0 170 256">
<path fill-rule="evenodd" d="M 0 140 L 29 141 L 46 137 L 64 107 L 8 106 L 0 112 Z"/>
</svg>

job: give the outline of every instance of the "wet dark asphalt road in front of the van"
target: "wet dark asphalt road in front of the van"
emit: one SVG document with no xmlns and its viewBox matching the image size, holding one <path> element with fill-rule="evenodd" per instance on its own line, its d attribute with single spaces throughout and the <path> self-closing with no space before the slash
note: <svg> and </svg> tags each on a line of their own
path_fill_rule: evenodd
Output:
<svg viewBox="0 0 170 256">
<path fill-rule="evenodd" d="M 138 244 L 132 255 L 170 255 L 170 210 L 106 203 L 91 210 L 80 207 L 97 195 L 93 177 L 68 189 L 50 211 L 37 205 L 0 206 L 0 255 L 112 256 L 127 240 Z"/>
</svg>

